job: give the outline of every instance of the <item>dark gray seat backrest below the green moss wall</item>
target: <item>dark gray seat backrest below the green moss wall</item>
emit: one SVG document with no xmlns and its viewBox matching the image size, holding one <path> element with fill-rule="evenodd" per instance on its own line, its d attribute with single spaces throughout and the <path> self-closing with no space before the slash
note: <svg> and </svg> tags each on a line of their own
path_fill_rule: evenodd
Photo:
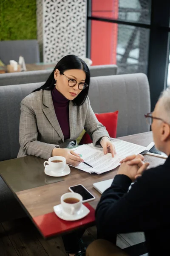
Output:
<svg viewBox="0 0 170 256">
<path fill-rule="evenodd" d="M 10 60 L 18 62 L 20 55 L 27 64 L 40 62 L 37 40 L 0 41 L 0 60 L 4 64 L 9 64 Z"/>
</svg>

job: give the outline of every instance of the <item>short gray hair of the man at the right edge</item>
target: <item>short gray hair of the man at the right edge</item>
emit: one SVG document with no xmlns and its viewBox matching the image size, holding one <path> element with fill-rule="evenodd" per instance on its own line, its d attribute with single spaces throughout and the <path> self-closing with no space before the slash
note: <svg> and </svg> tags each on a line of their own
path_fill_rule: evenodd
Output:
<svg viewBox="0 0 170 256">
<path fill-rule="evenodd" d="M 170 90 L 164 90 L 159 97 L 161 99 L 162 116 L 164 121 L 170 124 Z"/>
</svg>

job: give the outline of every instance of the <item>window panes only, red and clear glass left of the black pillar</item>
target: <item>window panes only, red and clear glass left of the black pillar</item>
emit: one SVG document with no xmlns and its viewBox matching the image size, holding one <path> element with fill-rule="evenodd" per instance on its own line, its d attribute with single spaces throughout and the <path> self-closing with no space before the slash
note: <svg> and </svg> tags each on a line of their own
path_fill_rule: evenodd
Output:
<svg viewBox="0 0 170 256">
<path fill-rule="evenodd" d="M 148 0 L 92 0 L 92 17 L 150 23 Z M 91 21 L 93 65 L 117 64 L 118 73 L 147 73 L 149 29 Z"/>
</svg>

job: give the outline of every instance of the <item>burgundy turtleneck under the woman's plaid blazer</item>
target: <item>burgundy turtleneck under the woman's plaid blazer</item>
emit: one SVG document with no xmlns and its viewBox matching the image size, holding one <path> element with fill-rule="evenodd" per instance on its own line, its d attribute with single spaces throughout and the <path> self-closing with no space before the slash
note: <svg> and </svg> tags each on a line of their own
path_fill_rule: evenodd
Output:
<svg viewBox="0 0 170 256">
<path fill-rule="evenodd" d="M 56 87 L 51 90 L 51 95 L 57 120 L 64 135 L 64 140 L 67 140 L 70 138 L 69 100 L 66 99 Z"/>
</svg>

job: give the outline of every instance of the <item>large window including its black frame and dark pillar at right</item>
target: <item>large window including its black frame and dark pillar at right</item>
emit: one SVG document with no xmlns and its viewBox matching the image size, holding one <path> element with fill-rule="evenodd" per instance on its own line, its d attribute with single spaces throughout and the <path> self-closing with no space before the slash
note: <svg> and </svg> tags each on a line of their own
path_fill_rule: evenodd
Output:
<svg viewBox="0 0 170 256">
<path fill-rule="evenodd" d="M 170 87 L 169 32 L 170 1 L 88 0 L 87 57 L 93 65 L 117 64 L 119 74 L 145 73 L 151 111 Z"/>
</svg>

